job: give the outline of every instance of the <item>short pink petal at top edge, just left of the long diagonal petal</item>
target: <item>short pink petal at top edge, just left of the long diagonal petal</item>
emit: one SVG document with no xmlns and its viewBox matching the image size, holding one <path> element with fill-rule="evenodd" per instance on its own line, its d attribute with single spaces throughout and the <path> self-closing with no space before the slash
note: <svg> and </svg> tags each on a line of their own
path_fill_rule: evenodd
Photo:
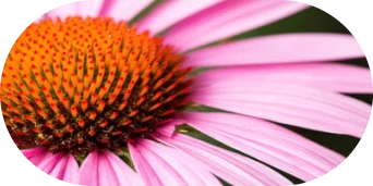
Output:
<svg viewBox="0 0 373 186">
<path fill-rule="evenodd" d="M 140 30 L 151 30 L 151 33 L 156 34 L 218 2 L 221 2 L 221 0 L 166 1 L 152 10 L 136 24 Z"/>
</svg>

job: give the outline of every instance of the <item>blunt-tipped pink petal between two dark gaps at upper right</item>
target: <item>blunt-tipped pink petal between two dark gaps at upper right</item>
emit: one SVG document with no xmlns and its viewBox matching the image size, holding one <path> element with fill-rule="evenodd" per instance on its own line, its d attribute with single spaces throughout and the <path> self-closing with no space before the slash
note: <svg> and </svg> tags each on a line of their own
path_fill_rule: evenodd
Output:
<svg viewBox="0 0 373 186">
<path fill-rule="evenodd" d="M 244 39 L 192 52 L 186 66 L 229 66 L 268 63 L 323 62 L 364 58 L 352 35 L 280 34 Z"/>
</svg>

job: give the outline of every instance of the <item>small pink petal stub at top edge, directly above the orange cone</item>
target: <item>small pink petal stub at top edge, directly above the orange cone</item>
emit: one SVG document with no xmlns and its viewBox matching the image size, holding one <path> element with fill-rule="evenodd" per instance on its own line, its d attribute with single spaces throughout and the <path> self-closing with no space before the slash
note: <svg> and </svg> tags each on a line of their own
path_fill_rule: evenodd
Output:
<svg viewBox="0 0 373 186">
<path fill-rule="evenodd" d="M 96 17 L 99 15 L 103 5 L 106 3 L 106 0 L 77 0 L 76 1 L 76 11 L 77 14 L 85 17 Z"/>
</svg>

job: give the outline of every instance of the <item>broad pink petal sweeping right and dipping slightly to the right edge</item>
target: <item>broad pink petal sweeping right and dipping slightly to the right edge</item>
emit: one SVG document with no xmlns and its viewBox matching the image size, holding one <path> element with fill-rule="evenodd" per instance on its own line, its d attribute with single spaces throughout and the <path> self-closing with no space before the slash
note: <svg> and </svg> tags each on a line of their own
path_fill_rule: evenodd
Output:
<svg viewBox="0 0 373 186">
<path fill-rule="evenodd" d="M 347 96 L 304 86 L 263 82 L 218 84 L 193 94 L 195 102 L 322 132 L 363 137 L 372 107 Z"/>
</svg>

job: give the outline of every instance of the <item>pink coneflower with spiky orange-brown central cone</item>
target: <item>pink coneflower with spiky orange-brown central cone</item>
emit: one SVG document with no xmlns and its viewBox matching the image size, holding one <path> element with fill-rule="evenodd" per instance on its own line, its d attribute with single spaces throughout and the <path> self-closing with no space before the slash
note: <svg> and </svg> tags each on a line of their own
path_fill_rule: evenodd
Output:
<svg viewBox="0 0 373 186">
<path fill-rule="evenodd" d="M 286 34 L 198 49 L 305 3 L 166 1 L 129 22 L 151 4 L 71 1 L 39 16 L 10 48 L 0 112 L 41 172 L 81 186 L 221 185 L 217 177 L 282 186 L 292 184 L 180 125 L 305 182 L 346 158 L 273 122 L 363 137 L 371 106 L 341 94 L 371 94 L 371 72 L 332 62 L 365 57 L 353 36 Z M 228 112 L 191 111 L 202 104 Z"/>
</svg>

